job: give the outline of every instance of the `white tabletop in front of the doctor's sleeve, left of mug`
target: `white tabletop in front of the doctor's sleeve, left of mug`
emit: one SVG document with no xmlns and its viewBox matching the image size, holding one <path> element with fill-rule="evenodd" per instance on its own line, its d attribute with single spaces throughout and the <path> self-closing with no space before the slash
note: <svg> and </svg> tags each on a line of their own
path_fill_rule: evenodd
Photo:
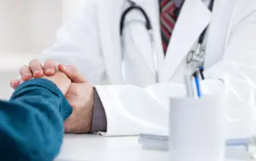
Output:
<svg viewBox="0 0 256 161">
<path fill-rule="evenodd" d="M 169 161 L 166 151 L 142 150 L 137 139 L 137 137 L 66 135 L 62 151 L 56 161 Z"/>
</svg>

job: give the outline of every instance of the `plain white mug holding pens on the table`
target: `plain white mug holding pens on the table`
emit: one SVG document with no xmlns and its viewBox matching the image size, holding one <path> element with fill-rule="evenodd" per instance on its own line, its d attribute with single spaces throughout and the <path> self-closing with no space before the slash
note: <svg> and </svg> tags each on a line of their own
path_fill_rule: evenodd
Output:
<svg viewBox="0 0 256 161">
<path fill-rule="evenodd" d="M 222 96 L 170 99 L 170 161 L 223 161 Z"/>
</svg>

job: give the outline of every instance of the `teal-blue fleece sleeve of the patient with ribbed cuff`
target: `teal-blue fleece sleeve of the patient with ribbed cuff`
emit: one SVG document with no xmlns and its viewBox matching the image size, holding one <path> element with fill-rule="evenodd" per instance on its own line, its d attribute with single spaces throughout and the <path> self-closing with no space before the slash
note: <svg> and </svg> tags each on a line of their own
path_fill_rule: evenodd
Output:
<svg viewBox="0 0 256 161">
<path fill-rule="evenodd" d="M 60 150 L 63 120 L 72 108 L 46 79 L 21 84 L 10 101 L 0 101 L 1 160 L 52 161 Z"/>
</svg>

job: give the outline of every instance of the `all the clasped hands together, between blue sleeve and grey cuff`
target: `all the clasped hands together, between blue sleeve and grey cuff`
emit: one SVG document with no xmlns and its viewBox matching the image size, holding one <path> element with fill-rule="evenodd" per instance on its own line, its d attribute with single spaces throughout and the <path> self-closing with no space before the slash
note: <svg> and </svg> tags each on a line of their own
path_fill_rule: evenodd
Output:
<svg viewBox="0 0 256 161">
<path fill-rule="evenodd" d="M 38 60 L 30 61 L 20 69 L 21 79 L 10 81 L 12 88 L 17 88 L 23 81 L 32 78 L 45 78 L 54 82 L 65 95 L 73 108 L 71 116 L 65 121 L 65 132 L 90 132 L 93 116 L 94 90 L 74 65 L 58 65 L 46 61 L 42 66 Z"/>
</svg>

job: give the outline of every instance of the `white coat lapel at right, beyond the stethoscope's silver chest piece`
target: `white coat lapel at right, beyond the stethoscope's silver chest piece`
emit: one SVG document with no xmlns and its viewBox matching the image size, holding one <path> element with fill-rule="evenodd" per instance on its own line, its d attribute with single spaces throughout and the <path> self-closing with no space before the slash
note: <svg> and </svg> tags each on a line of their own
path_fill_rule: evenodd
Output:
<svg viewBox="0 0 256 161">
<path fill-rule="evenodd" d="M 240 1 L 239 1 L 240 2 Z M 226 43 L 228 42 L 228 38 L 230 37 L 230 26 L 232 26 L 232 22 L 230 22 L 233 17 L 234 6 L 237 2 L 234 0 L 215 0 L 214 2 L 214 10 L 211 16 L 210 22 L 210 33 L 207 37 L 207 46 L 206 46 L 206 57 L 205 57 L 205 69 L 210 68 L 215 63 L 222 59 L 223 54 L 225 53 Z M 242 2 L 239 6 L 246 4 Z M 246 12 L 246 10 L 244 10 Z M 242 15 L 238 12 L 238 16 Z M 242 18 L 238 18 L 240 21 Z M 238 22 L 234 22 L 237 24 Z M 219 27 L 222 26 L 222 27 Z"/>
</svg>

